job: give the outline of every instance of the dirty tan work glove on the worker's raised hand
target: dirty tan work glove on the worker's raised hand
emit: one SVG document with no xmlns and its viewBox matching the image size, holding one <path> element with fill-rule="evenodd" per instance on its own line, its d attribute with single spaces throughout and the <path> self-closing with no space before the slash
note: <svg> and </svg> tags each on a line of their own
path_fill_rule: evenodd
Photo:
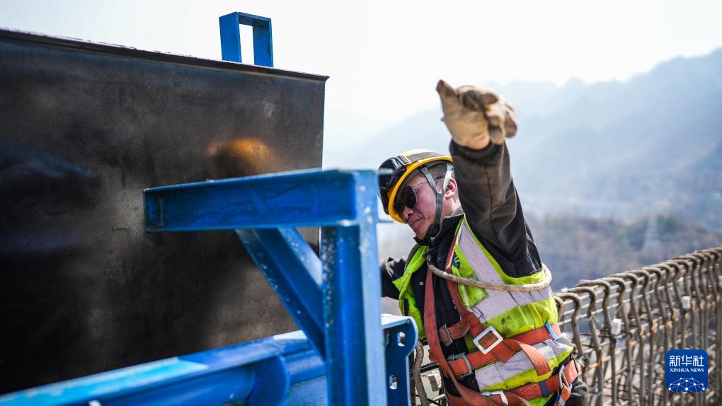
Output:
<svg viewBox="0 0 722 406">
<path fill-rule="evenodd" d="M 456 144 L 471 146 L 484 138 L 503 144 L 504 138 L 516 134 L 514 107 L 494 91 L 476 86 L 454 89 L 443 80 L 436 85 L 436 91 L 444 112 L 441 120 Z"/>
</svg>

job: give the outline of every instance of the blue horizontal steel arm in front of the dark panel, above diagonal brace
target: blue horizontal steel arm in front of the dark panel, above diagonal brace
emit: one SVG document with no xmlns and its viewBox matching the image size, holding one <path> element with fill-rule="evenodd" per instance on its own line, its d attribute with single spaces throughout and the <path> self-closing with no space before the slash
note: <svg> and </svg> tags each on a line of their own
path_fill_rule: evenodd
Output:
<svg viewBox="0 0 722 406">
<path fill-rule="evenodd" d="M 354 173 L 299 171 L 154 187 L 144 191 L 146 231 L 354 224 Z"/>
</svg>

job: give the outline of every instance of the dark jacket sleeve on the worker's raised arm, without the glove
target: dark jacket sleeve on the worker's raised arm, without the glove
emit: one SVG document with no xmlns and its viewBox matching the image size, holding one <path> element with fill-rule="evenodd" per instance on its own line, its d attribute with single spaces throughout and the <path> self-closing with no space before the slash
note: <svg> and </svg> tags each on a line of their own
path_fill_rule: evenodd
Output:
<svg viewBox="0 0 722 406">
<path fill-rule="evenodd" d="M 541 259 L 526 226 L 511 178 L 506 144 L 474 150 L 451 141 L 461 207 L 474 234 L 482 240 L 505 273 L 523 276 L 541 270 Z"/>
</svg>

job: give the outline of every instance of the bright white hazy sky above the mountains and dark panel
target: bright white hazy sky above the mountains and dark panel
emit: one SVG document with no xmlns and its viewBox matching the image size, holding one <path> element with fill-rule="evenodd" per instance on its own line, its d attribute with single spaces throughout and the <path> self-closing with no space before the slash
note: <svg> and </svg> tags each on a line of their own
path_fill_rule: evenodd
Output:
<svg viewBox="0 0 722 406">
<path fill-rule="evenodd" d="M 433 4 L 0 0 L 0 27 L 219 59 L 220 15 L 271 17 L 276 67 L 331 76 L 327 115 L 352 112 L 370 127 L 438 105 L 440 78 L 624 80 L 722 46 L 717 0 Z"/>
</svg>

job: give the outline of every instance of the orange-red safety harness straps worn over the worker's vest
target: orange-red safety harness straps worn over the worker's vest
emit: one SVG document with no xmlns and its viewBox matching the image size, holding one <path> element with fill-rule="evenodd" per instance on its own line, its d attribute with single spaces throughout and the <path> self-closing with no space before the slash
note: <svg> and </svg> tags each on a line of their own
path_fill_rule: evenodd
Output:
<svg viewBox="0 0 722 406">
<path fill-rule="evenodd" d="M 446 273 L 452 273 L 452 258 L 453 247 L 449 250 L 446 260 Z M 444 325 L 437 330 L 431 272 L 435 267 L 430 261 L 427 261 L 427 267 L 430 268 L 430 271 L 427 272 L 425 283 L 424 325 L 426 326 L 426 337 L 431 351 L 430 358 L 438 363 L 444 374 L 453 381 L 458 393 L 461 394 L 461 397 L 455 397 L 447 393 L 449 405 L 529 405 L 527 400 L 557 393 L 555 405 L 564 406 L 571 395 L 571 383 L 575 381 L 578 375 L 574 361 L 570 361 L 565 366 L 560 366 L 558 374 L 508 391 L 477 392 L 465 387 L 458 381 L 458 379 L 474 374 L 475 369 L 487 363 L 509 361 L 518 351 L 523 351 L 529 357 L 538 376 L 549 374 L 551 369 L 547 359 L 533 345 L 543 343 L 545 340 L 557 340 L 562 333 L 557 323 L 552 325 L 547 323 L 544 327 L 504 338 L 493 326 L 485 327 L 474 313 L 466 309 L 456 290 L 456 283 L 448 279 L 446 283 L 458 310 L 460 321 L 450 327 Z M 468 354 L 461 353 L 444 358 L 441 342 L 443 341 L 444 345 L 448 346 L 453 343 L 453 340 L 462 338 L 466 334 L 474 337 L 474 344 L 479 349 Z"/>
</svg>

